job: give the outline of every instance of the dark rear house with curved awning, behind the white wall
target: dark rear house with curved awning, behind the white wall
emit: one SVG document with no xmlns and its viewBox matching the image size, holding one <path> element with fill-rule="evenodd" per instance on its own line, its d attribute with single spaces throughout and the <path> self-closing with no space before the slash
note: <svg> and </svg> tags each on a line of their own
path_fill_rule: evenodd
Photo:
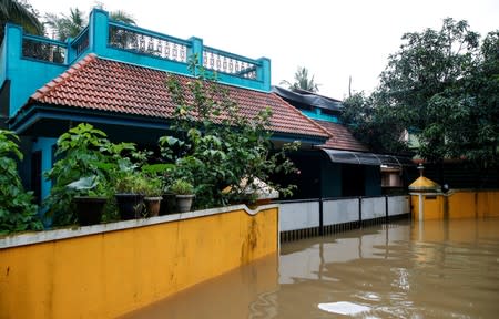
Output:
<svg viewBox="0 0 499 319">
<path fill-rule="evenodd" d="M 273 91 L 324 127 L 330 137 L 294 156 L 301 177 L 296 198 L 379 196 L 404 192 L 410 158 L 375 154 L 339 121 L 342 101 L 304 90 Z"/>
</svg>

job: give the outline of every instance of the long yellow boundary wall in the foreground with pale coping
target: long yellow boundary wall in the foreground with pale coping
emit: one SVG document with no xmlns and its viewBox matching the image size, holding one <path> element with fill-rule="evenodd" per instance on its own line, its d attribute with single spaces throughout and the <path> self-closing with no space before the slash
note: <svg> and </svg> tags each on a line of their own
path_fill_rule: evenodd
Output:
<svg viewBox="0 0 499 319">
<path fill-rule="evenodd" d="M 114 318 L 278 249 L 278 206 L 0 239 L 0 318 Z"/>
</svg>

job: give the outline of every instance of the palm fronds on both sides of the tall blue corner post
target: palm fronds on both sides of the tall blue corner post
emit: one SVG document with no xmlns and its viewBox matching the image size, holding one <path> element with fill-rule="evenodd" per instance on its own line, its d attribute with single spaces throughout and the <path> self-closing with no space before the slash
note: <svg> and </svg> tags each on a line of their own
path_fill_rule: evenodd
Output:
<svg viewBox="0 0 499 319">
<path fill-rule="evenodd" d="M 122 10 L 111 12 L 110 19 L 128 24 L 135 24 L 132 16 Z M 68 38 L 75 38 L 86 27 L 86 24 L 89 24 L 85 13 L 78 8 L 70 8 L 69 16 L 48 13 L 45 14 L 45 23 L 55 33 L 54 38 L 61 41 L 65 41 Z"/>
</svg>

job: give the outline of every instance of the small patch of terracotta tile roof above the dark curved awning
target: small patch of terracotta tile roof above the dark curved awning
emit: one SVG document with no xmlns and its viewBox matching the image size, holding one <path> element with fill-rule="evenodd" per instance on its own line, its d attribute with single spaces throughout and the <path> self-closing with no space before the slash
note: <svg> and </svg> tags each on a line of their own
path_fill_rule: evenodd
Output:
<svg viewBox="0 0 499 319">
<path fill-rule="evenodd" d="M 358 151 L 358 152 L 369 152 L 366 145 L 357 141 L 350 131 L 343 124 L 326 122 L 326 121 L 315 121 L 320 126 L 323 126 L 332 137 L 327 140 L 326 144 L 319 145 L 317 147 L 322 148 L 335 148 L 344 151 Z"/>
</svg>

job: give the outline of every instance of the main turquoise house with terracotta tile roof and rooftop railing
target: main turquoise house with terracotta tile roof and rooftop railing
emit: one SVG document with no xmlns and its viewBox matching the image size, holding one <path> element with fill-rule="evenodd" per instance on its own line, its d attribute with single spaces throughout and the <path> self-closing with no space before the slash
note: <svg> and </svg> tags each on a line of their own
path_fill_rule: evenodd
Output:
<svg viewBox="0 0 499 319">
<path fill-rule="evenodd" d="M 298 140 L 304 150 L 326 143 L 329 133 L 289 105 L 271 88 L 271 61 L 206 47 L 202 39 L 177 39 L 109 19 L 94 9 L 75 39 L 60 42 L 24 34 L 7 24 L 0 51 L 0 114 L 3 127 L 21 136 L 20 167 L 27 188 L 48 196 L 42 177 L 54 163 L 57 137 L 80 122 L 112 141 L 156 145 L 167 133 L 174 103 L 165 80 L 185 84 L 189 60 L 218 73 L 241 112 L 252 116 L 271 107 L 276 147 Z"/>
</svg>

